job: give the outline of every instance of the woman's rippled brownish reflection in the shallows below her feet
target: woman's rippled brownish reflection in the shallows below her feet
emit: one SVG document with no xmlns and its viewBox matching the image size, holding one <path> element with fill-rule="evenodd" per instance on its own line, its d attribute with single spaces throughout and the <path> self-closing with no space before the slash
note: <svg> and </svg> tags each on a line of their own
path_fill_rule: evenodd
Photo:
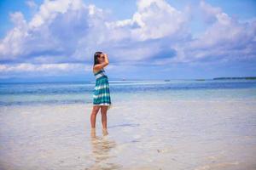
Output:
<svg viewBox="0 0 256 170">
<path fill-rule="evenodd" d="M 106 132 L 102 131 L 102 134 L 103 137 L 99 137 L 95 129 L 90 131 L 91 155 L 95 162 L 86 169 L 120 169 L 120 165 L 111 162 L 115 156 L 111 155 L 110 150 L 116 147 L 116 143 L 108 139 Z"/>
</svg>

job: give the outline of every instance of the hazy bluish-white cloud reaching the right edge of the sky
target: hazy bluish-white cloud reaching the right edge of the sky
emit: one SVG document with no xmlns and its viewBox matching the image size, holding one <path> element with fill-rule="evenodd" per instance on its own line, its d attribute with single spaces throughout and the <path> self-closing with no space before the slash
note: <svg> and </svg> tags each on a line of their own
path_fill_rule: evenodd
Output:
<svg viewBox="0 0 256 170">
<path fill-rule="evenodd" d="M 201 37 L 178 46 L 177 57 L 172 61 L 229 61 L 255 59 L 256 22 L 240 23 L 224 13 L 221 8 L 212 7 L 201 1 L 201 13 L 205 22 L 211 23 Z"/>
</svg>

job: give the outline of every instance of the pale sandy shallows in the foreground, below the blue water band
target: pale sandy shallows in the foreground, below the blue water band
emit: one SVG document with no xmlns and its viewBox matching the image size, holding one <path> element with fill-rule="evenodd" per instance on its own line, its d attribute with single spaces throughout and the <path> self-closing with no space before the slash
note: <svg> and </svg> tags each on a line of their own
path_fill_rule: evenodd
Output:
<svg viewBox="0 0 256 170">
<path fill-rule="evenodd" d="M 90 104 L 5 106 L 1 169 L 256 168 L 256 101 L 117 102 L 90 135 Z"/>
</svg>

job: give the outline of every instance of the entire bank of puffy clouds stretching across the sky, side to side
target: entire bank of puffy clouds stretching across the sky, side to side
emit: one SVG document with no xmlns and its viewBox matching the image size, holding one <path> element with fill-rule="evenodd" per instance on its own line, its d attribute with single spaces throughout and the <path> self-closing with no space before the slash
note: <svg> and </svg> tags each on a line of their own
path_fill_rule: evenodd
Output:
<svg viewBox="0 0 256 170">
<path fill-rule="evenodd" d="M 137 11 L 125 20 L 113 20 L 108 10 L 82 0 L 26 4 L 36 10 L 32 19 L 10 14 L 15 27 L 0 41 L 2 72 L 79 69 L 92 64 L 98 50 L 113 65 L 255 58 L 255 20 L 240 23 L 205 1 L 197 9 L 207 29 L 197 38 L 189 28 L 189 6 L 180 11 L 164 0 L 138 0 Z"/>
</svg>

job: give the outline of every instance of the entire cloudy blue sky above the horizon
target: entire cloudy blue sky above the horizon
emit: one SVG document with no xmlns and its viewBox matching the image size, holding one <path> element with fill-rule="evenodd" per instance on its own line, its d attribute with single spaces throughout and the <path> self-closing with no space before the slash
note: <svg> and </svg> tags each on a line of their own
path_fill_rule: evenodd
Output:
<svg viewBox="0 0 256 170">
<path fill-rule="evenodd" d="M 256 76 L 253 0 L 0 2 L 0 82 Z"/>
</svg>

